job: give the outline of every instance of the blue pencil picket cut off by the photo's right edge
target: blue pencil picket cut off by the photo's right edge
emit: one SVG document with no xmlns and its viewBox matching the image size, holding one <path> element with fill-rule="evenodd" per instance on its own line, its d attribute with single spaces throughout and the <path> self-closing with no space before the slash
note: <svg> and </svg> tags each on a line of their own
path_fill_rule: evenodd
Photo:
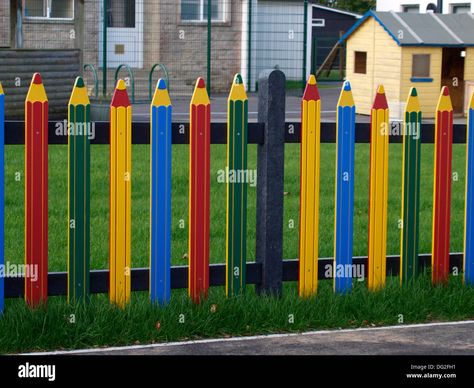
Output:
<svg viewBox="0 0 474 388">
<path fill-rule="evenodd" d="M 467 116 L 464 282 L 474 285 L 474 93 Z"/>
</svg>

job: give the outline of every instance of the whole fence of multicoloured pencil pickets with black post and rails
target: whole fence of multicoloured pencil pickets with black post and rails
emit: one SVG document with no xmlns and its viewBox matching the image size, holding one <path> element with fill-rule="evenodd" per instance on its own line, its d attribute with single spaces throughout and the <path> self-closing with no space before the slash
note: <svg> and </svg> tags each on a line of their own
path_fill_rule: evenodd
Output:
<svg viewBox="0 0 474 388">
<path fill-rule="evenodd" d="M 171 288 L 188 288 L 199 303 L 212 285 L 225 285 L 227 295 L 256 284 L 258 292 L 279 294 L 284 280 L 297 280 L 302 297 L 317 292 L 318 279 L 332 278 L 337 293 L 352 289 L 352 269 L 364 264 L 371 290 L 384 286 L 387 273 L 400 274 L 402 285 L 413 281 L 431 260 L 433 284 L 448 281 L 450 267 L 464 265 L 466 284 L 474 284 L 474 95 L 466 129 L 466 190 L 464 254 L 449 253 L 451 161 L 453 138 L 463 142 L 463 130 L 453 125 L 449 90 L 441 91 L 436 125 L 432 254 L 418 253 L 420 202 L 420 150 L 428 129 L 421 121 L 419 96 L 410 90 L 402 132 L 402 185 L 400 256 L 386 255 L 389 111 L 379 86 L 371 123 L 356 132 L 356 107 L 349 81 L 344 82 L 334 127 L 321 123 L 321 98 L 311 76 L 302 98 L 301 125 L 285 127 L 285 76 L 279 70 L 262 72 L 259 123 L 248 123 L 248 100 L 243 80 L 236 75 L 228 100 L 225 128 L 212 124 L 211 102 L 199 78 L 190 103 L 189 140 L 177 139 L 167 85 L 159 80 L 150 107 L 150 267 L 132 269 L 131 143 L 132 106 L 125 84 L 119 80 L 110 106 L 110 225 L 109 271 L 90 271 L 90 103 L 82 78 L 74 84 L 68 123 L 68 272 L 47 271 L 48 253 L 48 99 L 41 76 L 33 76 L 25 102 L 25 264 L 36 265 L 36 279 L 0 276 L 0 311 L 5 297 L 23 295 L 34 307 L 48 295 L 67 293 L 71 303 L 85 301 L 90 293 L 109 292 L 111 303 L 123 307 L 132 290 L 149 290 L 153 303 L 169 301 Z M 0 85 L 0 265 L 4 260 L 4 123 L 5 96 Z M 134 131 L 137 128 L 134 129 Z M 144 128 L 143 128 L 144 129 Z M 285 129 L 285 130 L 284 130 Z M 105 130 L 105 128 L 104 128 Z M 425 133 L 426 132 L 426 133 Z M 457 133 L 455 135 L 455 132 Z M 300 136 L 300 138 L 298 138 Z M 5 140 L 4 140 L 5 137 Z M 361 139 L 364 138 L 365 139 Z M 299 260 L 282 260 L 283 165 L 285 142 L 301 142 Z M 370 143 L 368 256 L 352 252 L 356 142 Z M 173 142 L 189 142 L 189 266 L 171 266 L 171 153 Z M 336 143 L 334 257 L 318 255 L 320 145 Z M 226 265 L 209 264 L 210 144 L 227 144 L 227 169 L 247 169 L 247 144 L 258 144 L 257 261 L 247 263 L 246 182 L 227 179 Z M 11 144 L 11 139 L 9 143 Z M 360 183 L 359 183 L 360 184 Z M 330 264 L 330 276 L 321 270 Z M 349 271 L 348 271 L 349 270 Z M 48 286 L 48 282 L 50 282 Z M 67 286 L 64 287 L 64 283 Z M 5 283 L 5 284 L 4 284 Z M 108 289 L 107 289 L 108 287 Z M 66 292 L 64 292 L 66 289 Z M 5 291 L 5 292 L 4 292 Z"/>
</svg>

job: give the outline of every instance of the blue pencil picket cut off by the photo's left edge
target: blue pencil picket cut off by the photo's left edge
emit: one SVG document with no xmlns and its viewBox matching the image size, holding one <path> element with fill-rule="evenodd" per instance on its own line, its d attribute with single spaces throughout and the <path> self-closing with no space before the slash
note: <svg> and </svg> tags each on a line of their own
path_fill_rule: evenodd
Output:
<svg viewBox="0 0 474 388">
<path fill-rule="evenodd" d="M 0 83 L 0 266 L 5 264 L 5 95 Z M 4 272 L 4 271 L 2 271 Z M 4 306 L 4 276 L 0 274 L 0 314 Z"/>
</svg>

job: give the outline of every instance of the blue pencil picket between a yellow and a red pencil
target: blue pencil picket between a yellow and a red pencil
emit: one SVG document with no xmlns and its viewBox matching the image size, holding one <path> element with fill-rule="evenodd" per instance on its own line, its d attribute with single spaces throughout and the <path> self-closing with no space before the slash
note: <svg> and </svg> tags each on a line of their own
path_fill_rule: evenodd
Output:
<svg viewBox="0 0 474 388">
<path fill-rule="evenodd" d="M 171 100 L 160 79 L 150 107 L 150 300 L 169 302 L 171 287 Z"/>
</svg>

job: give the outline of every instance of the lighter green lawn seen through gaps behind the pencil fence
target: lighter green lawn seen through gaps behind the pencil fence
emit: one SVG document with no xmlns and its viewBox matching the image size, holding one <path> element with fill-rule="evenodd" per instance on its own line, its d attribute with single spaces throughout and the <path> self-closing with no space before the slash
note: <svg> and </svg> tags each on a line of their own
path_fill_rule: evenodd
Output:
<svg viewBox="0 0 474 388">
<path fill-rule="evenodd" d="M 256 168 L 256 146 L 249 146 L 249 168 Z M 148 265 L 149 244 L 149 148 L 133 146 L 132 161 L 132 266 Z M 49 154 L 49 270 L 66 271 L 67 257 L 67 148 L 50 146 Z M 225 147 L 211 149 L 211 261 L 225 258 L 225 185 L 217 182 L 217 170 L 225 167 Z M 387 253 L 398 254 L 400 237 L 401 145 L 390 145 Z M 422 146 L 420 253 L 431 251 L 433 190 L 433 145 Z M 91 151 L 91 268 L 108 267 L 108 147 Z M 454 145 L 453 171 L 458 180 L 452 186 L 451 252 L 463 247 L 465 146 Z M 334 144 L 321 147 L 320 257 L 331 257 L 334 227 Z M 356 145 L 354 255 L 367 255 L 369 146 Z M 284 257 L 298 257 L 299 145 L 285 148 Z M 23 147 L 6 148 L 5 255 L 13 263 L 23 262 Z M 15 173 L 21 180 L 15 180 Z M 255 258 L 256 188 L 248 190 L 247 256 Z M 173 147 L 172 263 L 186 264 L 188 214 L 188 148 Z"/>
</svg>

